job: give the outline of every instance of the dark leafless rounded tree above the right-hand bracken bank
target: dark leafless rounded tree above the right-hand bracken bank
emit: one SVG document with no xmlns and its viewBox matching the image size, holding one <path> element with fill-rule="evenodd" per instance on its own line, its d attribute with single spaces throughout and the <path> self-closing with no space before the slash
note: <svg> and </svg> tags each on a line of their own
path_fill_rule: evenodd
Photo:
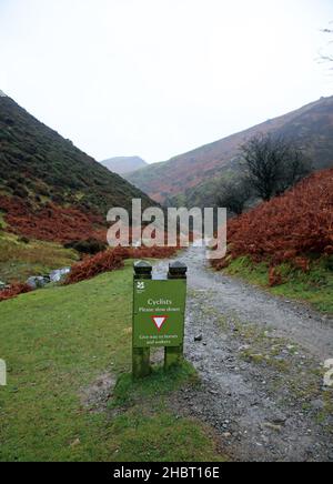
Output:
<svg viewBox="0 0 333 484">
<path fill-rule="evenodd" d="M 241 148 L 241 154 L 250 186 L 265 201 L 282 194 L 311 171 L 302 150 L 271 134 L 252 138 Z"/>
</svg>

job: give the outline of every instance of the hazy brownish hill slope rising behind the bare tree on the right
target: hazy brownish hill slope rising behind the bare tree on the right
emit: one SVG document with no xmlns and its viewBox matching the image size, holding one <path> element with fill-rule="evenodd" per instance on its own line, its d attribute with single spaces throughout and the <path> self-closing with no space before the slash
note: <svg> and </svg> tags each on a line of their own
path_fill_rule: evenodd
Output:
<svg viewBox="0 0 333 484">
<path fill-rule="evenodd" d="M 259 133 L 293 139 L 306 150 L 314 169 L 330 168 L 333 165 L 333 97 L 167 162 L 150 164 L 127 179 L 159 202 L 210 206 L 221 180 L 234 177 L 240 170 L 240 147 Z"/>
</svg>

